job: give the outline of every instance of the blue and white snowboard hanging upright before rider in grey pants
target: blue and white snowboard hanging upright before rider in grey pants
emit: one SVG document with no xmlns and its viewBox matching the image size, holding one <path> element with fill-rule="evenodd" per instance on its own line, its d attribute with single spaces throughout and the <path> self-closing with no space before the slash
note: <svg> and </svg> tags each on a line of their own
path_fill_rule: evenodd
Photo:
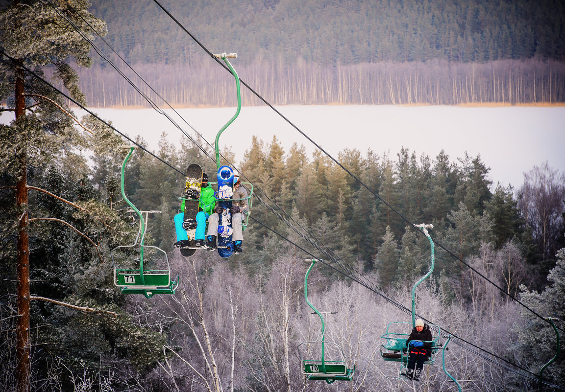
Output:
<svg viewBox="0 0 565 392">
<path fill-rule="evenodd" d="M 233 254 L 232 242 L 232 195 L 233 195 L 233 170 L 229 166 L 218 169 L 218 191 L 224 191 L 225 197 L 218 199 L 217 204 L 223 208 L 218 220 L 218 254 L 228 258 Z M 229 195 L 229 196 L 228 196 Z"/>
</svg>

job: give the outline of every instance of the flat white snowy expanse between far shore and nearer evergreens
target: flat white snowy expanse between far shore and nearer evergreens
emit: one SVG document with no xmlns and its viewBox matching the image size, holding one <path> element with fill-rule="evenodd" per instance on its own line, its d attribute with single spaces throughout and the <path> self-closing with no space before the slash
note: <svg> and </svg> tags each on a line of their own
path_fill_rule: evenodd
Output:
<svg viewBox="0 0 565 392">
<path fill-rule="evenodd" d="M 444 149 L 450 160 L 480 153 L 491 168 L 490 179 L 518 188 L 524 171 L 549 162 L 565 170 L 565 107 L 450 107 L 393 105 L 289 105 L 277 107 L 314 142 L 337 159 L 344 148 L 368 148 L 393 160 L 402 147 L 429 155 L 432 160 Z M 154 109 L 92 109 L 121 133 L 139 134 L 149 149 L 156 151 L 161 133 L 172 142 L 185 138 L 163 114 Z M 177 109 L 167 114 L 189 134 L 194 127 L 214 144 L 218 130 L 235 113 L 235 108 Z M 186 120 L 186 122 L 185 122 Z M 9 121 L 8 116 L 0 117 Z M 308 154 L 316 148 L 293 126 L 268 107 L 243 107 L 240 116 L 220 137 L 220 151 L 226 146 L 240 161 L 257 135 L 270 143 L 276 135 L 285 151 L 294 142 Z"/>
</svg>

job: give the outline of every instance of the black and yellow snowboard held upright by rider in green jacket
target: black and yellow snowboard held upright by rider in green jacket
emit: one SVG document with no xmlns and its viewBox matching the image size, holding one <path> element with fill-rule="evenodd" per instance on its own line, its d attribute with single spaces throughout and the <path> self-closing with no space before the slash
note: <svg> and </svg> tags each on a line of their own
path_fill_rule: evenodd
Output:
<svg viewBox="0 0 565 392">
<path fill-rule="evenodd" d="M 182 220 L 182 228 L 186 230 L 186 236 L 190 241 L 190 248 L 180 250 L 184 257 L 192 256 L 196 252 L 194 245 L 194 236 L 196 234 L 196 214 L 198 214 L 198 204 L 200 199 L 200 188 L 202 187 L 202 168 L 198 164 L 190 164 L 186 168 L 186 184 L 184 191 L 192 191 L 194 195 L 198 194 L 197 199 L 190 199 L 185 196 L 184 201 L 184 218 Z"/>
</svg>

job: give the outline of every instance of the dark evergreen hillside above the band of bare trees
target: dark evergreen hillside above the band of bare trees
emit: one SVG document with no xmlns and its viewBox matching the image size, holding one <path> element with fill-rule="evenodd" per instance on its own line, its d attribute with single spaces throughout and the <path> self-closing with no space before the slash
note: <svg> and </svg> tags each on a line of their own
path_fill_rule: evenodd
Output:
<svg viewBox="0 0 565 392">
<path fill-rule="evenodd" d="M 109 41 L 133 63 L 185 63 L 192 39 L 152 1 L 93 0 Z M 212 51 L 294 62 L 562 59 L 565 3 L 554 0 L 160 1 Z"/>
</svg>

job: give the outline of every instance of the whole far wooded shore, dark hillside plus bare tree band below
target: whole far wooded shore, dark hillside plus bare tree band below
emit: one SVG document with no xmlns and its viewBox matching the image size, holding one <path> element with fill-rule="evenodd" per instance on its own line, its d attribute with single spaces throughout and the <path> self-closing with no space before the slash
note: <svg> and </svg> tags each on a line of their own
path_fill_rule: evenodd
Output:
<svg viewBox="0 0 565 392">
<path fill-rule="evenodd" d="M 565 101 L 562 1 L 160 3 L 210 51 L 237 52 L 242 80 L 275 104 Z M 229 75 L 155 2 L 93 0 L 92 12 L 169 103 L 233 104 Z M 95 61 L 81 74 L 91 105 L 144 104 Z"/>
</svg>

